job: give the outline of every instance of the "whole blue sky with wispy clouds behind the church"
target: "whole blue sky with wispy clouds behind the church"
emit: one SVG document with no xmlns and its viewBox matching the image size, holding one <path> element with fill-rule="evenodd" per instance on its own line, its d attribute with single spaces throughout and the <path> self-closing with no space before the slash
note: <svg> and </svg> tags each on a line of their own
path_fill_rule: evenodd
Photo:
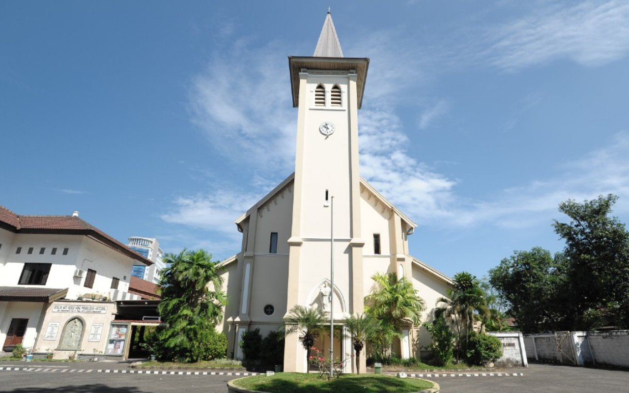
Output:
<svg viewBox="0 0 629 393">
<path fill-rule="evenodd" d="M 0 204 L 237 253 L 233 220 L 294 170 L 287 56 L 331 6 L 371 59 L 361 174 L 415 257 L 480 277 L 559 251 L 566 199 L 617 194 L 629 221 L 629 3 L 302 3 L 0 3 Z"/>
</svg>

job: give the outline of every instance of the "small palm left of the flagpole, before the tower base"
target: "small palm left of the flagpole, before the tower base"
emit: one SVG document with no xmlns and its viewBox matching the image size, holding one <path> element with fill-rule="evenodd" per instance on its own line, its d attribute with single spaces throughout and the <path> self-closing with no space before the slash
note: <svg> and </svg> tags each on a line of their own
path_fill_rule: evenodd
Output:
<svg viewBox="0 0 629 393">
<path fill-rule="evenodd" d="M 289 335 L 296 331 L 301 331 L 299 342 L 306 350 L 307 372 L 310 372 L 310 348 L 315 345 L 316 338 L 324 329 L 325 314 L 322 310 L 314 307 L 294 306 L 284 318 L 286 323 L 285 334 Z"/>
</svg>

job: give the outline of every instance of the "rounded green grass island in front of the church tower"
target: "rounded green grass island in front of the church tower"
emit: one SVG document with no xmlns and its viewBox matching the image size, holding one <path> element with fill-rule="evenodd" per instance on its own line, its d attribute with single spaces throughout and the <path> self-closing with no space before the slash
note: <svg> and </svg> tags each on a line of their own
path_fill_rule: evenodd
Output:
<svg viewBox="0 0 629 393">
<path fill-rule="evenodd" d="M 433 387 L 432 382 L 391 375 L 345 374 L 338 379 L 319 378 L 318 373 L 282 372 L 267 377 L 256 375 L 234 381 L 238 387 L 269 393 L 408 393 Z"/>
</svg>

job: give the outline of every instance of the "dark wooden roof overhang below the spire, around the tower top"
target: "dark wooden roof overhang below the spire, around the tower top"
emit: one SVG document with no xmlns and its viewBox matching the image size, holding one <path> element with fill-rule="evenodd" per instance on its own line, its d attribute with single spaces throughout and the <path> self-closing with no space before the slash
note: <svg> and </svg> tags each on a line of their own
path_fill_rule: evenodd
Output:
<svg viewBox="0 0 629 393">
<path fill-rule="evenodd" d="M 321 71 L 350 71 L 356 73 L 356 92 L 358 95 L 358 109 L 362 107 L 362 96 L 365 92 L 369 58 L 360 57 L 288 57 L 291 70 L 292 107 L 299 106 L 299 72 L 301 70 Z"/>
</svg>

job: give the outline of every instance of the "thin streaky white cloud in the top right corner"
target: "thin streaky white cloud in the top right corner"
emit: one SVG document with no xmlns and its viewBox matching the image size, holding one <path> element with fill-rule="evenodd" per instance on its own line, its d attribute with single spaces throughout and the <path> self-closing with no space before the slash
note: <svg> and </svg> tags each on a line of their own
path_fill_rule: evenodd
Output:
<svg viewBox="0 0 629 393">
<path fill-rule="evenodd" d="M 489 29 L 475 50 L 477 60 L 504 70 L 560 58 L 586 66 L 605 64 L 629 51 L 629 3 L 584 1 L 542 7 Z"/>
</svg>

